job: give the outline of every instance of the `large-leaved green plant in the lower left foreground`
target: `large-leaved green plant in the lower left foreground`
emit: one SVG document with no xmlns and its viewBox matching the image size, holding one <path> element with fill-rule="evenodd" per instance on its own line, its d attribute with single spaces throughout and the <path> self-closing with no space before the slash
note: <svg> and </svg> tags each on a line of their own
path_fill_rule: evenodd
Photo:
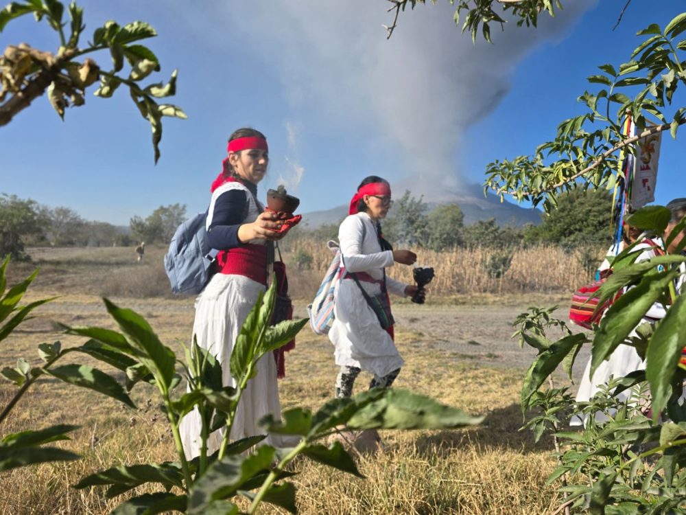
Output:
<svg viewBox="0 0 686 515">
<path fill-rule="evenodd" d="M 0 290 L 4 289 L 5 260 L 0 268 Z M 18 308 L 21 293 L 35 277 L 12 288 L 10 297 L 14 315 L 12 327 L 3 327 L 2 333 L 10 334 L 18 325 L 16 317 L 40 304 L 34 303 Z M 176 359 L 174 352 L 159 341 L 150 325 L 136 312 L 119 308 L 105 299 L 109 314 L 119 325 L 119 331 L 98 327 L 67 327 L 67 334 L 85 336 L 88 341 L 77 347 L 63 349 L 59 342 L 39 345 L 39 354 L 45 364 L 29 367 L 20 361 L 16 368 L 5 368 L 3 376 L 20 387 L 8 407 L 0 416 L 0 424 L 10 414 L 26 389 L 41 376 L 49 375 L 73 385 L 93 389 L 113 397 L 129 407 L 135 407 L 129 392 L 141 381 L 156 387 L 162 399 L 174 436 L 178 461 L 160 464 L 124 464 L 113 466 L 84 477 L 75 488 L 105 486 L 106 496 L 113 498 L 147 483 L 159 483 L 155 493 L 135 495 L 117 507 L 115 514 L 157 514 L 176 511 L 188 514 L 237 514 L 239 508 L 233 502 L 236 496 L 250 500 L 248 513 L 257 513 L 261 503 L 279 505 L 296 513 L 296 489 L 286 481 L 297 472 L 288 467 L 298 456 L 307 457 L 343 472 L 362 477 L 355 461 L 340 444 L 325 442 L 342 425 L 351 429 L 366 428 L 457 428 L 477 424 L 480 417 L 470 417 L 458 409 L 444 406 L 425 396 L 404 390 L 373 389 L 353 398 L 334 399 L 316 411 L 290 409 L 283 413 L 283 420 L 265 417 L 261 426 L 265 433 L 278 433 L 298 437 L 293 448 L 277 449 L 259 445 L 266 434 L 255 435 L 230 442 L 233 418 L 241 394 L 248 381 L 256 374 L 260 359 L 271 359 L 273 350 L 292 340 L 307 323 L 307 319 L 287 321 L 270 325 L 276 290 L 272 287 L 259 298 L 241 332 L 230 359 L 231 373 L 237 378 L 235 387 L 222 385 L 222 368 L 215 357 L 193 342 L 186 349 L 186 363 Z M 9 306 L 10 301 L 0 302 Z M 47 301 L 49 299 L 46 299 Z M 45 301 L 39 301 L 43 303 Z M 5 311 L 8 308 L 5 308 Z M 0 319 L 1 321 L 1 319 Z M 114 376 L 93 367 L 71 363 L 57 365 L 65 356 L 85 353 L 98 361 L 119 369 L 126 374 L 121 384 Z M 177 373 L 177 368 L 182 374 Z M 187 390 L 178 391 L 184 376 Z M 182 448 L 179 425 L 182 417 L 198 409 L 202 420 L 201 452 L 195 459 L 187 459 Z M 40 431 L 24 431 L 5 435 L 0 440 L 0 471 L 33 463 L 78 459 L 78 455 L 60 448 L 43 444 L 68 439 L 67 433 L 77 426 L 52 426 Z M 223 428 L 224 439 L 220 449 L 209 455 L 207 439 L 217 429 Z M 250 453 L 246 451 L 250 450 Z M 287 470 L 287 468 L 289 470 Z"/>
</svg>

